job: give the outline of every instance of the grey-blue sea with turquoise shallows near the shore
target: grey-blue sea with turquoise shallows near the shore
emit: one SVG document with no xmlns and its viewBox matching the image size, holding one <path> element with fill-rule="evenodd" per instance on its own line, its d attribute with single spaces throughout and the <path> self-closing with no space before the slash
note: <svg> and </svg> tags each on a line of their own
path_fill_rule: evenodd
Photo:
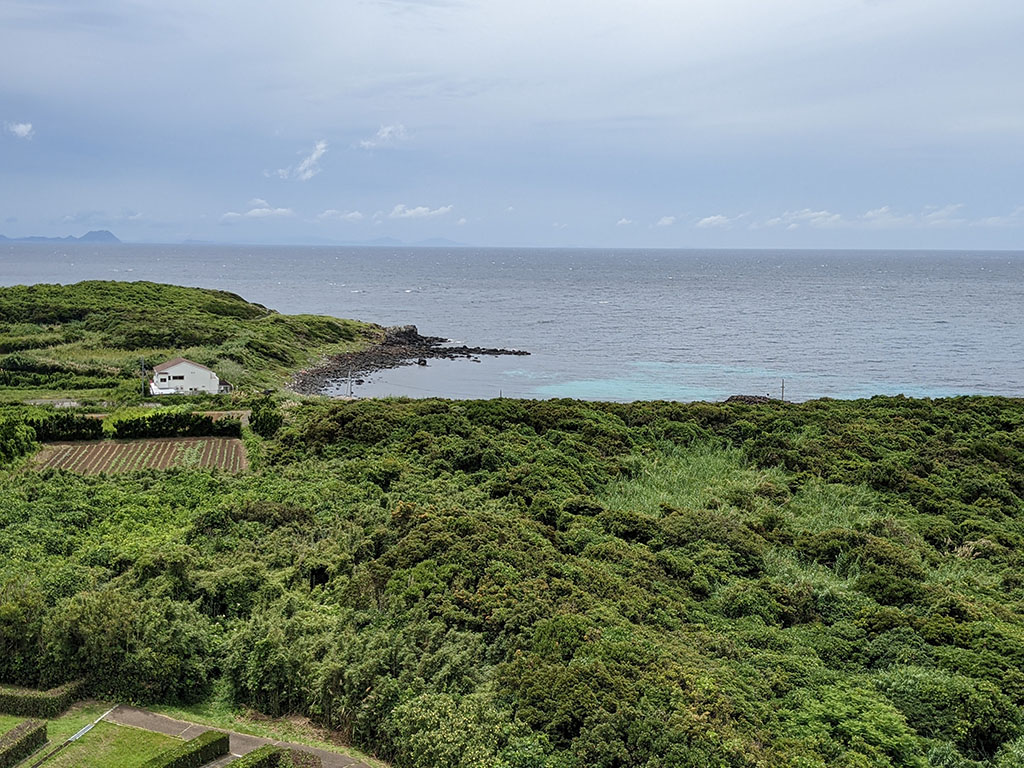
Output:
<svg viewBox="0 0 1024 768">
<path fill-rule="evenodd" d="M 1024 252 L 0 244 L 2 285 L 82 280 L 531 353 L 381 372 L 367 396 L 1024 395 Z"/>
</svg>

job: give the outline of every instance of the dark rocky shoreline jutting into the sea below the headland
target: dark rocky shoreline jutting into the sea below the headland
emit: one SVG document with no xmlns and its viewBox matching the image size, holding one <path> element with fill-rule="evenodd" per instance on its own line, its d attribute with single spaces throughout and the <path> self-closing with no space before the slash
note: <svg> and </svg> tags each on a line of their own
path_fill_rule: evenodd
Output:
<svg viewBox="0 0 1024 768">
<path fill-rule="evenodd" d="M 522 349 L 495 347 L 444 346 L 449 339 L 439 336 L 421 336 L 416 326 L 394 326 L 384 329 L 384 339 L 357 352 L 337 354 L 323 365 L 300 371 L 289 388 L 299 394 L 323 394 L 328 382 L 344 381 L 349 376 L 358 385 L 376 371 L 400 366 L 427 365 L 428 359 L 454 360 L 460 357 L 473 359 L 481 355 L 529 354 Z"/>
</svg>

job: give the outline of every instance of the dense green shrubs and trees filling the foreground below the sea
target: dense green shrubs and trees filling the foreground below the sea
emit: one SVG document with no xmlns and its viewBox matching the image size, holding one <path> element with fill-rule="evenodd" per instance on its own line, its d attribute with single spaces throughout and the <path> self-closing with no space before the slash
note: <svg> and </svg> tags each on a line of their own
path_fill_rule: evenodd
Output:
<svg viewBox="0 0 1024 768">
<path fill-rule="evenodd" d="M 284 413 L 239 476 L 0 475 L 0 681 L 402 767 L 1024 760 L 1020 400 Z"/>
</svg>

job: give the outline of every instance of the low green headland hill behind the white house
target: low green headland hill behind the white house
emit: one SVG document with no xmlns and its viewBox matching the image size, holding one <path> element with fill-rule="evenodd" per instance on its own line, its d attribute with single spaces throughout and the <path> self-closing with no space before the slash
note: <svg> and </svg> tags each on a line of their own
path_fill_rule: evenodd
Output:
<svg viewBox="0 0 1024 768">
<path fill-rule="evenodd" d="M 177 355 L 237 387 L 278 387 L 379 333 L 366 323 L 279 314 L 224 291 L 157 283 L 0 288 L 0 400 L 134 401 L 140 360 L 152 368 Z"/>
</svg>

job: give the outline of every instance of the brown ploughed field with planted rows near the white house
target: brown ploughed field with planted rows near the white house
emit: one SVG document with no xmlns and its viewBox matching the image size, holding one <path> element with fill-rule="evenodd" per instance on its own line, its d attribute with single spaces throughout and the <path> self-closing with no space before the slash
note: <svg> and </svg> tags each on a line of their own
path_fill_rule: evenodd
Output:
<svg viewBox="0 0 1024 768">
<path fill-rule="evenodd" d="M 248 467 L 248 461 L 245 445 L 238 438 L 156 437 L 47 443 L 35 457 L 34 466 L 87 475 L 170 467 L 217 467 L 241 472 Z"/>
</svg>

